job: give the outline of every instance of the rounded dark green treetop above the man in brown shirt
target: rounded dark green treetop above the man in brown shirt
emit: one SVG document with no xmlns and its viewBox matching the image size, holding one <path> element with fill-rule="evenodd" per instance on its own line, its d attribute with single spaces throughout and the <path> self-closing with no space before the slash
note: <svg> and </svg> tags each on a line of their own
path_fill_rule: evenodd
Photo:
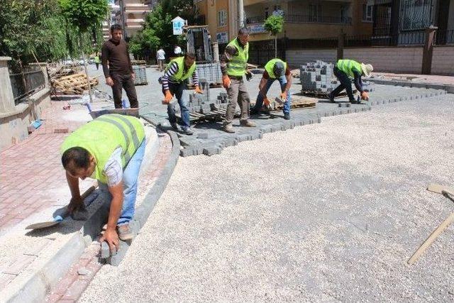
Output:
<svg viewBox="0 0 454 303">
<path fill-rule="evenodd" d="M 106 0 L 60 0 L 60 6 L 67 21 L 81 33 L 100 26 L 109 12 Z"/>
</svg>

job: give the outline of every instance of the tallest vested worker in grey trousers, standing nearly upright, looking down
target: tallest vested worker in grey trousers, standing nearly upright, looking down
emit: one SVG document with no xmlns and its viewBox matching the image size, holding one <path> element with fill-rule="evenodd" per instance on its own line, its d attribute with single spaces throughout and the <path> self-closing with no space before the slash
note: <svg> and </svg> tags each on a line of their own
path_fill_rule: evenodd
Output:
<svg viewBox="0 0 454 303">
<path fill-rule="evenodd" d="M 240 28 L 238 36 L 228 43 L 221 56 L 222 82 L 228 94 L 226 121 L 223 126 L 223 131 L 227 133 L 235 133 L 232 122 L 237 103 L 241 109 L 240 125 L 256 126 L 249 120 L 250 98 L 243 80 L 244 75 L 248 80 L 252 77 L 252 73 L 248 70 L 248 58 L 249 30 Z"/>
</svg>

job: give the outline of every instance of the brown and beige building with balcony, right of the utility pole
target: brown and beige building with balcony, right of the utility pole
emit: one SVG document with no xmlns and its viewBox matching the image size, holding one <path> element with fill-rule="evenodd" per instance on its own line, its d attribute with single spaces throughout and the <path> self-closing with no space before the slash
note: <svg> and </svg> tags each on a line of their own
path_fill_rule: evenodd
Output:
<svg viewBox="0 0 454 303">
<path fill-rule="evenodd" d="M 370 34 L 372 19 L 367 18 L 367 1 L 362 0 L 244 0 L 245 21 L 251 40 L 270 40 L 264 21 L 268 16 L 284 17 L 284 32 L 278 38 L 307 39 Z M 363 16 L 366 15 L 366 16 Z"/>
</svg>

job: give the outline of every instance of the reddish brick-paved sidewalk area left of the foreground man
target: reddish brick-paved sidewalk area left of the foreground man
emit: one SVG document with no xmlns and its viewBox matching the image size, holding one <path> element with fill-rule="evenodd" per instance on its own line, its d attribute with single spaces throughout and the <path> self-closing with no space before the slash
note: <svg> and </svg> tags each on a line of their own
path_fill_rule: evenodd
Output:
<svg viewBox="0 0 454 303">
<path fill-rule="evenodd" d="M 86 114 L 86 121 L 58 119 L 66 114 L 63 105 L 52 101 L 41 118 L 43 125 L 26 141 L 0 153 L 0 235 L 37 211 L 69 202 L 60 144 L 91 118 Z M 83 112 L 79 116 L 84 117 Z"/>
</svg>

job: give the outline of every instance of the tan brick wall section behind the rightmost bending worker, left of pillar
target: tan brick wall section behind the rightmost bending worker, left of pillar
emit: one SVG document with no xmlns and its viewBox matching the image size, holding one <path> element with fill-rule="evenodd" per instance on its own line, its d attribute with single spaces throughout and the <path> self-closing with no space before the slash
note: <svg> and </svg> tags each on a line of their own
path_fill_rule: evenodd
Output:
<svg viewBox="0 0 454 303">
<path fill-rule="evenodd" d="M 423 48 L 345 48 L 343 56 L 370 63 L 376 72 L 420 74 Z"/>
</svg>

